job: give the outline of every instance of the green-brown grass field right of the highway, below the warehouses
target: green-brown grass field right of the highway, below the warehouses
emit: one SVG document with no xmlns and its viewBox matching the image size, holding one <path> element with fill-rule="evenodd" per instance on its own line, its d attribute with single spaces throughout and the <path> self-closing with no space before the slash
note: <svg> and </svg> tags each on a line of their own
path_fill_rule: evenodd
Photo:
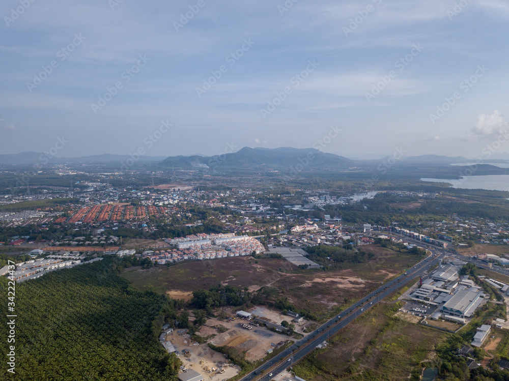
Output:
<svg viewBox="0 0 509 381">
<path fill-rule="evenodd" d="M 377 305 L 294 366 L 307 381 L 405 380 L 446 334 L 394 317 L 399 304 Z"/>
</svg>

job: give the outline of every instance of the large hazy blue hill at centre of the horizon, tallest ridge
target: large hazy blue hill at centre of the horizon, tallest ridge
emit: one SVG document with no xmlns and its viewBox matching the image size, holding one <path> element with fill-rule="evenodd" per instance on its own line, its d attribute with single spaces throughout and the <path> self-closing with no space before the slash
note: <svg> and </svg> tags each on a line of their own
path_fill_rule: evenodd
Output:
<svg viewBox="0 0 509 381">
<path fill-rule="evenodd" d="M 224 155 L 211 157 L 172 156 L 162 161 L 174 168 L 216 168 L 216 169 L 291 169 L 297 165 L 306 169 L 341 169 L 355 165 L 343 156 L 323 153 L 314 148 L 249 148 Z"/>
</svg>

